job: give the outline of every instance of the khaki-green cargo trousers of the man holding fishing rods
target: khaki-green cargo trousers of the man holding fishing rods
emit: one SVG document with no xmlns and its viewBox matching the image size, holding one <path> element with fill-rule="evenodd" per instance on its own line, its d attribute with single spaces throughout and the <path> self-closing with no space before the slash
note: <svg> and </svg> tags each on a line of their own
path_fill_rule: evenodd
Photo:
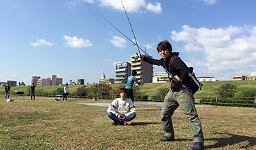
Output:
<svg viewBox="0 0 256 150">
<path fill-rule="evenodd" d="M 178 92 L 170 90 L 165 96 L 165 101 L 163 102 L 161 111 L 161 121 L 163 130 L 166 132 L 166 136 L 174 138 L 172 115 L 179 106 L 181 106 L 184 115 L 190 122 L 190 129 L 192 131 L 194 142 L 203 143 L 203 131 L 194 106 L 194 97 L 192 92 L 189 92 L 188 90 L 181 90 Z"/>
</svg>

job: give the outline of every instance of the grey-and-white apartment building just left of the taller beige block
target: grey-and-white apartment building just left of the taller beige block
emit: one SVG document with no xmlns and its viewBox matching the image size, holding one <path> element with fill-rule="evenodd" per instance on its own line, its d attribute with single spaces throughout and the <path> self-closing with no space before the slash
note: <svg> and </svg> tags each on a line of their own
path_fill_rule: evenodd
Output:
<svg viewBox="0 0 256 150">
<path fill-rule="evenodd" d="M 123 81 L 126 83 L 129 75 L 131 75 L 131 64 L 129 62 L 116 64 L 115 84 L 121 84 Z"/>
</svg>

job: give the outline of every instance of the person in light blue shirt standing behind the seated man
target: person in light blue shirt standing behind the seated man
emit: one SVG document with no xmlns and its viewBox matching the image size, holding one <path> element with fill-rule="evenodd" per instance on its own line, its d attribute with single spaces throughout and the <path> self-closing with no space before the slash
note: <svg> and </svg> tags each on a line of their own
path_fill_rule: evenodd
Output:
<svg viewBox="0 0 256 150">
<path fill-rule="evenodd" d="M 132 71 L 131 75 L 127 79 L 127 84 L 125 86 L 125 88 L 127 89 L 127 97 L 131 98 L 132 102 L 134 102 L 134 91 L 132 90 L 132 87 L 134 86 L 134 82 L 140 85 L 140 82 L 138 82 L 138 80 L 135 77 L 136 75 L 137 75 L 137 71 Z"/>
</svg>

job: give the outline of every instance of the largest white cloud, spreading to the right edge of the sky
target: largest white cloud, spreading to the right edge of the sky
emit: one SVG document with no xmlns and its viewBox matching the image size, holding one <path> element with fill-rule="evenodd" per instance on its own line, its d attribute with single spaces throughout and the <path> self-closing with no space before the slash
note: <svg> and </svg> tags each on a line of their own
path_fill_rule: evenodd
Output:
<svg viewBox="0 0 256 150">
<path fill-rule="evenodd" d="M 232 79 L 256 71 L 256 26 L 217 29 L 183 26 L 180 32 L 172 32 L 172 39 L 185 43 L 179 51 L 190 54 L 188 64 L 198 68 L 201 75 Z"/>
</svg>

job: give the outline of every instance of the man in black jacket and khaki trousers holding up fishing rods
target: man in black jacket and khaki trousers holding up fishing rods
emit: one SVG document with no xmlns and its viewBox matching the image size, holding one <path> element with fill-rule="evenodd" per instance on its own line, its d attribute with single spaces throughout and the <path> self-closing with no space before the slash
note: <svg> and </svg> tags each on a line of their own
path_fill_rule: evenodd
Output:
<svg viewBox="0 0 256 150">
<path fill-rule="evenodd" d="M 141 60 L 149 64 L 163 66 L 168 74 L 171 73 L 170 91 L 165 96 L 163 107 L 161 111 L 161 121 L 165 136 L 159 138 L 161 141 L 174 141 L 174 129 L 172 126 L 172 115 L 174 111 L 180 106 L 184 115 L 190 122 L 190 129 L 194 144 L 190 149 L 199 150 L 203 149 L 203 131 L 199 116 L 197 115 L 194 106 L 194 97 L 191 91 L 191 86 L 188 77 L 188 68 L 178 57 L 179 53 L 172 53 L 172 45 L 169 41 L 161 41 L 157 46 L 157 51 L 162 59 L 152 59 L 140 55 Z"/>
</svg>

